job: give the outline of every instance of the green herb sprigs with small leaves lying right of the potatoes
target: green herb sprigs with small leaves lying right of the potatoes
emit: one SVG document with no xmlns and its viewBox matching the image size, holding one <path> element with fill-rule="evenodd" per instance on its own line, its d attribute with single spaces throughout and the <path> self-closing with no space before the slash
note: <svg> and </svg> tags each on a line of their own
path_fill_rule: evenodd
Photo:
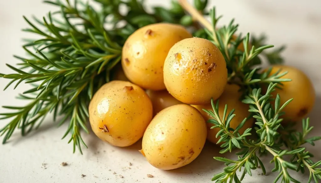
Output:
<svg viewBox="0 0 321 183">
<path fill-rule="evenodd" d="M 310 172 L 308 183 L 312 178 L 315 182 L 318 182 L 318 179 L 321 179 L 321 168 L 317 167 L 321 165 L 321 161 L 314 163 L 310 159 L 313 155 L 305 151 L 305 147 L 301 146 L 305 143 L 314 145 L 313 141 L 319 140 L 321 137 L 305 138 L 313 129 L 313 127 L 309 127 L 309 119 L 303 120 L 302 133 L 290 128 L 283 128 L 281 124 L 283 120 L 281 118 L 283 114 L 282 109 L 292 99 L 284 104 L 280 104 L 280 96 L 277 94 L 275 99 L 273 99 L 271 95 L 275 87 L 282 87 L 282 82 L 288 82 L 291 79 L 281 79 L 282 76 L 286 76 L 286 71 L 270 74 L 271 69 L 259 72 L 259 69 L 255 67 L 261 64 L 257 56 L 272 46 L 262 46 L 255 40 L 252 42 L 252 48 L 249 49 L 249 34 L 246 37 L 239 35 L 238 38 L 232 40 L 232 35 L 235 34 L 238 27 L 238 25 L 233 24 L 233 20 L 227 27 L 217 28 L 216 23 L 221 16 L 218 18 L 215 16 L 215 9 L 210 12 L 210 16 L 212 18 L 213 29 L 205 29 L 208 35 L 207 38 L 212 40 L 213 44 L 223 54 L 229 71 L 229 82 L 238 84 L 243 88 L 242 102 L 249 104 L 248 111 L 252 113 L 252 117 L 256 120 L 255 132 L 258 135 L 257 139 L 250 139 L 250 135 L 252 135 L 251 128 L 246 129 L 243 134 L 239 133 L 239 129 L 247 122 L 246 118 L 240 122 L 236 129 L 232 129 L 230 121 L 235 116 L 233 114 L 235 110 L 229 109 L 230 112 L 227 114 L 228 106 L 225 105 L 223 119 L 221 119 L 218 112 L 219 100 L 217 100 L 216 104 L 212 100 L 213 111 L 203 110 L 213 118 L 208 120 L 209 123 L 214 125 L 212 129 L 220 129 L 216 135 L 216 137 L 219 137 L 217 144 L 223 143 L 221 145 L 223 149 L 220 153 L 231 152 L 234 148 L 240 149 L 237 153 L 238 160 L 214 157 L 215 160 L 225 162 L 226 167 L 223 172 L 215 174 L 212 180 L 218 183 L 228 181 L 238 183 L 244 179 L 246 174 L 252 176 L 251 171 L 257 169 L 258 166 L 261 166 L 263 174 L 265 174 L 265 166 L 259 157 L 262 154 L 270 153 L 273 155 L 271 163 L 275 165 L 272 172 L 279 172 L 274 182 L 277 182 L 279 179 L 285 183 L 299 182 L 291 177 L 289 170 L 301 171 L 302 173 L 308 170 Z M 243 41 L 244 52 L 237 49 L 241 41 Z M 256 48 L 256 46 L 259 47 Z M 274 54 L 278 54 L 279 51 L 280 49 L 274 52 Z M 269 55 L 266 57 L 271 63 L 280 63 L 282 60 L 279 55 L 274 58 Z M 262 91 L 262 85 L 266 84 L 268 85 L 266 91 Z M 275 100 L 275 106 L 271 105 L 270 101 L 272 100 Z M 285 133 L 285 135 L 280 134 L 280 131 Z M 285 156 L 290 156 L 291 160 L 286 161 L 284 159 Z M 236 172 L 241 171 L 242 167 L 244 167 L 243 173 L 241 177 L 238 177 Z"/>
</svg>

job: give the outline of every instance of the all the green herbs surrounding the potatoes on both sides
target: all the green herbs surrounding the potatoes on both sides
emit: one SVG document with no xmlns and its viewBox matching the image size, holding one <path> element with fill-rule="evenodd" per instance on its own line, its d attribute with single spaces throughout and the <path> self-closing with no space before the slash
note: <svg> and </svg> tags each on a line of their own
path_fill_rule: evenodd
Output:
<svg viewBox="0 0 321 183">
<path fill-rule="evenodd" d="M 206 11 L 207 0 L 195 0 L 194 5 L 198 12 L 210 15 L 212 25 L 199 28 L 193 15 L 184 12 L 176 1 L 172 1 L 171 7 L 153 7 L 153 13 L 146 12 L 142 2 L 137 0 L 95 0 L 99 9 L 94 9 L 89 3 L 75 1 L 71 4 L 68 0 L 62 2 L 45 1 L 59 8 L 56 12 L 49 12 L 41 20 L 33 18 L 24 19 L 30 28 L 23 31 L 37 34 L 40 38 L 29 40 L 23 48 L 28 57 L 15 56 L 21 62 L 11 66 L 13 74 L 0 74 L 0 77 L 11 79 L 8 88 L 14 82 L 16 88 L 20 83 L 30 83 L 33 87 L 18 97 L 28 100 L 25 106 L 3 106 L 13 112 L 2 113 L 1 119 L 12 120 L 0 129 L 4 135 L 5 143 L 13 134 L 15 129 L 20 129 L 22 136 L 30 130 L 37 129 L 46 115 L 53 113 L 54 121 L 58 116 L 62 120 L 58 125 L 69 122 L 66 137 L 70 136 L 73 142 L 74 152 L 76 146 L 82 153 L 81 148 L 85 146 L 80 135 L 80 130 L 88 133 L 86 123 L 88 121 L 88 103 L 98 88 L 113 78 L 113 71 L 121 60 L 121 51 L 127 37 L 135 30 L 148 24 L 157 22 L 170 22 L 182 24 L 192 28 L 194 36 L 209 39 L 223 54 L 228 69 L 228 82 L 238 84 L 243 92 L 243 103 L 249 104 L 251 118 L 256 120 L 254 129 L 247 129 L 243 134 L 239 129 L 247 122 L 244 119 L 236 129 L 230 127 L 230 121 L 235 116 L 234 109 L 228 113 L 228 106 L 224 108 L 224 117 L 218 114 L 219 101 L 214 104 L 213 111 L 206 111 L 213 117 L 208 122 L 213 123 L 212 128 L 220 128 L 217 137 L 218 143 L 222 142 L 220 153 L 231 152 L 239 149 L 238 159 L 231 160 L 222 157 L 214 157 L 215 160 L 225 162 L 226 167 L 221 173 L 215 174 L 212 180 L 217 182 L 240 182 L 245 175 L 252 175 L 251 171 L 261 166 L 266 173 L 265 166 L 260 160 L 263 154 L 272 154 L 275 164 L 272 170 L 278 171 L 279 175 L 275 182 L 281 179 L 283 182 L 298 182 L 289 174 L 289 170 L 309 171 L 310 177 L 318 182 L 321 178 L 321 161 L 313 162 L 313 155 L 305 150 L 302 145 L 321 137 L 307 138 L 313 127 L 309 127 L 309 119 L 304 119 L 302 133 L 296 132 L 289 127 L 283 127 L 282 109 L 291 102 L 280 104 L 280 96 L 273 99 L 271 92 L 275 87 L 282 87 L 282 82 L 291 81 L 283 79 L 286 71 L 278 71 L 271 74 L 271 69 L 261 71 L 261 59 L 258 55 L 265 57 L 271 64 L 280 64 L 283 58 L 280 56 L 281 48 L 268 52 L 272 45 L 265 45 L 265 37 L 250 37 L 247 34 L 237 38 L 238 25 L 232 20 L 229 25 L 221 28 L 216 27 L 220 17 L 216 17 L 215 9 L 210 13 Z M 182 4 L 185 1 L 179 0 Z M 186 3 L 186 2 L 185 2 Z M 120 6 L 125 6 L 128 12 L 119 12 Z M 187 10 L 188 11 L 188 10 Z M 238 49 L 243 43 L 244 51 Z M 249 45 L 253 47 L 249 48 Z M 262 88 L 267 88 L 262 91 Z M 275 100 L 275 106 L 270 101 Z M 255 130 L 257 139 L 250 139 L 252 131 Z M 283 157 L 290 156 L 290 161 Z M 244 167 L 244 168 L 242 168 Z M 236 172 L 243 170 L 241 177 Z"/>
</svg>

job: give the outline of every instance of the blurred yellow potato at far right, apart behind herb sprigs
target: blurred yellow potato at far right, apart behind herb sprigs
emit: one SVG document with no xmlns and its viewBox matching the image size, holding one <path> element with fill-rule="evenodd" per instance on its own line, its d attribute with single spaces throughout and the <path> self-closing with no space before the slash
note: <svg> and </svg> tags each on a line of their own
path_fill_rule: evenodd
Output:
<svg viewBox="0 0 321 183">
<path fill-rule="evenodd" d="M 288 73 L 281 78 L 292 79 L 289 82 L 283 82 L 283 89 L 275 88 L 272 92 L 273 97 L 280 95 L 281 106 L 293 98 L 293 100 L 283 109 L 285 114 L 281 116 L 284 121 L 299 121 L 312 110 L 315 103 L 315 90 L 306 74 L 297 68 L 285 65 L 275 65 L 272 67 L 270 75 L 282 69 L 281 72 Z M 272 102 L 274 106 L 274 101 Z"/>
</svg>

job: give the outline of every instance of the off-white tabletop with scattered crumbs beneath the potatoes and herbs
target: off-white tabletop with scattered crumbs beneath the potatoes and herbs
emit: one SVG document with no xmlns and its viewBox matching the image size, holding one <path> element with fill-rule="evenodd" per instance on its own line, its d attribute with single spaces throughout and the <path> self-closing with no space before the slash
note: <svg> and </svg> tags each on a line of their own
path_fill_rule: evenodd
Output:
<svg viewBox="0 0 321 183">
<path fill-rule="evenodd" d="M 169 0 L 146 1 L 150 4 L 164 5 L 169 5 L 169 2 Z M 286 63 L 302 69 L 314 83 L 317 101 L 309 116 L 312 125 L 316 127 L 312 135 L 320 135 L 321 1 L 215 0 L 211 1 L 211 4 L 216 6 L 218 14 L 224 15 L 220 24 L 236 17 L 240 31 L 256 34 L 265 32 L 269 36 L 269 44 L 288 46 L 284 52 Z M 0 1 L 0 73 L 12 72 L 5 67 L 5 63 L 16 63 L 17 60 L 12 55 L 24 55 L 21 38 L 32 36 L 20 31 L 27 26 L 22 15 L 30 17 L 33 14 L 42 17 L 49 10 L 54 9 L 52 6 L 42 4 L 40 0 Z M 0 79 L 0 88 L 4 88 L 8 81 Z M 21 85 L 14 91 L 12 87 L 1 91 L 0 105 L 19 106 L 21 101 L 14 99 L 14 96 L 25 89 L 26 85 Z M 0 112 L 4 111 L 0 109 Z M 0 127 L 7 122 L 8 120 L 0 121 Z M 21 137 L 19 131 L 16 131 L 8 144 L 0 145 L 0 183 L 202 183 L 210 182 L 213 174 L 221 171 L 223 167 L 222 163 L 212 158 L 220 155 L 219 149 L 207 143 L 194 162 L 177 170 L 161 171 L 149 165 L 137 151 L 140 149 L 140 142 L 128 148 L 117 148 L 100 141 L 93 133 L 83 134 L 89 149 L 83 149 L 83 155 L 78 152 L 72 154 L 72 146 L 67 144 L 67 139 L 60 140 L 65 129 L 66 126 L 56 128 L 56 124 L 49 118 L 38 131 L 32 132 L 27 137 Z M 318 152 L 321 142 L 316 144 L 315 147 L 308 146 L 308 149 L 316 154 L 315 160 L 320 160 Z M 263 159 L 267 171 L 270 171 L 273 168 L 269 165 L 271 157 Z M 68 166 L 61 166 L 61 162 L 67 162 Z M 132 166 L 129 166 L 129 162 Z M 45 163 L 45 166 L 42 163 Z M 116 174 L 113 174 L 114 171 Z M 246 176 L 244 181 L 272 182 L 276 176 L 276 174 L 261 176 L 257 175 L 258 173 L 261 172 L 254 171 L 253 177 Z M 81 174 L 86 176 L 81 178 Z M 152 174 L 154 177 L 147 178 L 147 174 Z M 302 176 L 298 173 L 293 175 L 302 182 L 307 181 L 307 175 Z"/>
</svg>

